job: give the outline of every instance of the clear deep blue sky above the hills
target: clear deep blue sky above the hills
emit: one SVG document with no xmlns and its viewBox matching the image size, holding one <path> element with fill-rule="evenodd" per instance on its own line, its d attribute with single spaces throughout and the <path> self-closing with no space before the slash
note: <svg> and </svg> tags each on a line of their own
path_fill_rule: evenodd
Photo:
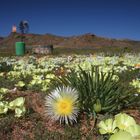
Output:
<svg viewBox="0 0 140 140">
<path fill-rule="evenodd" d="M 27 20 L 30 33 L 93 33 L 140 40 L 140 0 L 1 0 L 0 36 Z"/>
</svg>

